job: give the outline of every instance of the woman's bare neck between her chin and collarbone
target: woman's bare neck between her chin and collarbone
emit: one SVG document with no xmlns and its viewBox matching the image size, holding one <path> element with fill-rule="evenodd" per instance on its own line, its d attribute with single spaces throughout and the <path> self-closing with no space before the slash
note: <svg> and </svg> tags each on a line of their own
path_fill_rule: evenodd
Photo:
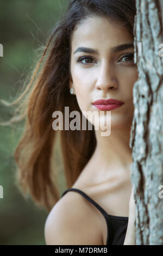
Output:
<svg viewBox="0 0 163 256">
<path fill-rule="evenodd" d="M 101 136 L 101 131 L 95 130 L 96 149 L 93 157 L 101 167 L 116 166 L 124 170 L 130 170 L 132 163 L 130 141 L 130 127 L 123 130 L 111 131 L 110 136 Z"/>
</svg>

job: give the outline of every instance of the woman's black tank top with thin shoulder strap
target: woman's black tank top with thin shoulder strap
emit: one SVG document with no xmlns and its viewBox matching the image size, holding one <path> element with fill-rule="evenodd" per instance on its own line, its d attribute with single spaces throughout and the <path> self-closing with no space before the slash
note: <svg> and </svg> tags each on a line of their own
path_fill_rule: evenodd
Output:
<svg viewBox="0 0 163 256">
<path fill-rule="evenodd" d="M 68 191 L 75 191 L 79 194 L 82 194 L 83 197 L 89 200 L 89 202 L 91 202 L 99 211 L 101 211 L 107 224 L 106 245 L 123 245 L 127 231 L 128 217 L 107 214 L 106 211 L 93 199 L 91 199 L 89 196 L 87 196 L 87 194 L 81 190 L 78 190 L 77 188 L 69 188 L 68 190 L 65 190 L 65 192 L 62 193 L 62 196 L 64 196 L 64 194 L 66 194 Z"/>
</svg>

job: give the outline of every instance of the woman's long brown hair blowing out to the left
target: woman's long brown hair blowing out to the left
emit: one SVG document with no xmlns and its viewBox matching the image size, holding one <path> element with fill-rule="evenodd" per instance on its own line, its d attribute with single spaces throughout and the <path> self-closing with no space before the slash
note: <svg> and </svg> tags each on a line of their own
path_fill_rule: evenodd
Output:
<svg viewBox="0 0 163 256">
<path fill-rule="evenodd" d="M 59 200 L 55 168 L 52 169 L 53 149 L 57 134 L 64 163 L 67 188 L 77 180 L 96 148 L 95 130 L 52 129 L 54 111 L 64 115 L 65 106 L 71 111 L 82 112 L 76 95 L 71 95 L 68 81 L 71 35 L 89 16 L 106 17 L 121 22 L 133 34 L 135 0 L 73 0 L 68 3 L 66 14 L 60 18 L 47 39 L 43 53 L 36 64 L 30 82 L 20 96 L 9 106 L 18 104 L 9 124 L 25 120 L 24 131 L 15 149 L 18 185 L 27 191 L 36 204 L 48 211 Z"/>
</svg>

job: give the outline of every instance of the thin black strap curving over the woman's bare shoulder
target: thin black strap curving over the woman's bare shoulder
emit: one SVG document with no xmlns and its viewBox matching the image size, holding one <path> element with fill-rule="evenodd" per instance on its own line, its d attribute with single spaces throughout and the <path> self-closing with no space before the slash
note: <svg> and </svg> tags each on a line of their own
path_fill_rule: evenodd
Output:
<svg viewBox="0 0 163 256">
<path fill-rule="evenodd" d="M 62 196 L 64 196 L 64 194 L 66 194 L 68 191 L 75 191 L 75 192 L 78 192 L 79 194 L 82 194 L 83 197 L 85 197 L 87 200 L 89 200 L 89 202 L 91 202 L 93 205 L 95 205 L 95 207 L 102 213 L 102 215 L 105 218 L 107 230 L 108 230 L 106 244 L 111 245 L 112 226 L 111 226 L 109 214 L 107 214 L 107 212 L 101 206 L 99 206 L 99 204 L 97 204 L 93 199 L 91 199 L 89 196 L 87 196 L 87 194 L 85 194 L 82 190 L 78 190 L 78 188 L 69 188 L 68 190 L 65 190 L 64 193 L 62 193 Z"/>
</svg>

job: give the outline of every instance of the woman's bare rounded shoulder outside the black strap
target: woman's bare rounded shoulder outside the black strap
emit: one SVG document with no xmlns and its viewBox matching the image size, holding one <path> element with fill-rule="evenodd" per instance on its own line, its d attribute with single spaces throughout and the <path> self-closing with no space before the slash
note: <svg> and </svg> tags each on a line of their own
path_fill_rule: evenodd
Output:
<svg viewBox="0 0 163 256">
<path fill-rule="evenodd" d="M 99 221 L 83 197 L 67 192 L 54 205 L 45 223 L 47 245 L 103 245 Z"/>
</svg>

